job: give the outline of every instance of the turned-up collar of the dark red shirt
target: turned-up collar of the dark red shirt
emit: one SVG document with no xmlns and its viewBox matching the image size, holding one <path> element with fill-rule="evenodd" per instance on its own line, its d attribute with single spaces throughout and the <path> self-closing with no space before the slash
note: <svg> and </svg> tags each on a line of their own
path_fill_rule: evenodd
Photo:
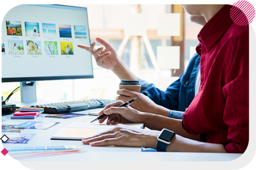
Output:
<svg viewBox="0 0 256 170">
<path fill-rule="evenodd" d="M 231 4 L 224 5 L 201 29 L 198 40 L 204 44 L 207 52 L 212 48 L 216 41 L 225 33 L 232 24 L 230 18 Z"/>
</svg>

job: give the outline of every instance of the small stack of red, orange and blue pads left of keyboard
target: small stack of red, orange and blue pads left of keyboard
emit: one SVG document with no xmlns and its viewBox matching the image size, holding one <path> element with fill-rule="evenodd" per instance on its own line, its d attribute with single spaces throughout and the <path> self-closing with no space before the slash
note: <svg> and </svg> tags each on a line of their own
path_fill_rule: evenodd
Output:
<svg viewBox="0 0 256 170">
<path fill-rule="evenodd" d="M 43 113 L 43 108 L 19 108 L 13 113 L 11 119 L 35 119 L 40 113 Z"/>
</svg>

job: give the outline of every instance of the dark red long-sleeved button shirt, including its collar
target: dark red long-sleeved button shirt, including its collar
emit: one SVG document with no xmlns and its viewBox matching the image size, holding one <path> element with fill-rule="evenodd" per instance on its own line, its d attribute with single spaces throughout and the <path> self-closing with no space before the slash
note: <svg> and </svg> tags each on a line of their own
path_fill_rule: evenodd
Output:
<svg viewBox="0 0 256 170">
<path fill-rule="evenodd" d="M 249 142 L 249 25 L 238 26 L 225 5 L 201 29 L 201 85 L 182 127 L 200 140 L 244 153 Z"/>
</svg>

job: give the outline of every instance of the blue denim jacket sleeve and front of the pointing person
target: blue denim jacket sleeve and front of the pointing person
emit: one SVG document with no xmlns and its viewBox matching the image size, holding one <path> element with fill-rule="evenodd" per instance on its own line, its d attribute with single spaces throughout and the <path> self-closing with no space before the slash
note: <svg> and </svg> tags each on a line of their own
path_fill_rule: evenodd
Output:
<svg viewBox="0 0 256 170">
<path fill-rule="evenodd" d="M 195 97 L 195 82 L 200 66 L 200 56 L 196 53 L 190 59 L 186 71 L 173 82 L 166 91 L 161 91 L 152 83 L 139 78 L 141 93 L 157 105 L 170 109 L 168 117 L 183 119 L 183 113 Z"/>
</svg>

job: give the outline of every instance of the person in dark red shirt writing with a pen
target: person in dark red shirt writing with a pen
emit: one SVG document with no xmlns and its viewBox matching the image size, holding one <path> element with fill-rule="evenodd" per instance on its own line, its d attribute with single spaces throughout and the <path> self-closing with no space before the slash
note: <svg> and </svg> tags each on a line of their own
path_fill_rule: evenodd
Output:
<svg viewBox="0 0 256 170">
<path fill-rule="evenodd" d="M 144 123 L 152 130 L 122 124 L 84 138 L 91 146 L 140 146 L 157 148 L 159 130 L 176 133 L 166 151 L 244 153 L 249 142 L 249 25 L 238 26 L 230 18 L 232 5 L 182 5 L 207 23 L 198 34 L 201 85 L 183 114 L 172 119 L 143 113 L 131 107 L 117 108 L 122 101 L 105 106 L 111 123 Z M 100 119 L 102 123 L 107 117 Z"/>
</svg>

